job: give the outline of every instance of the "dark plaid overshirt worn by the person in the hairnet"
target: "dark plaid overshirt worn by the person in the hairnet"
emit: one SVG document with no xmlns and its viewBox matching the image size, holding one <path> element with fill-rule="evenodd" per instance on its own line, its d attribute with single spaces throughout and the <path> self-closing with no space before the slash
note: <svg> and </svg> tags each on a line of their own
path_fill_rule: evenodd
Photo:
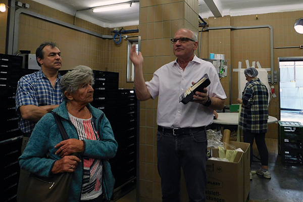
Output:
<svg viewBox="0 0 303 202">
<path fill-rule="evenodd" d="M 242 92 L 243 105 L 239 128 L 251 133 L 266 133 L 268 121 L 268 90 L 259 78 L 247 82 Z"/>
</svg>

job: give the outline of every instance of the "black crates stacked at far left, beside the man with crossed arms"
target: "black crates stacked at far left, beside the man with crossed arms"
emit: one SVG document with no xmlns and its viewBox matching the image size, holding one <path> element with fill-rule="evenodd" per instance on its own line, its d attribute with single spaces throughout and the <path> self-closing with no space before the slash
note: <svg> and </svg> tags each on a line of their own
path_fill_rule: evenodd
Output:
<svg viewBox="0 0 303 202">
<path fill-rule="evenodd" d="M 15 112 L 18 80 L 37 70 L 22 69 L 23 57 L 0 54 L 0 198 L 16 201 L 22 134 Z"/>
</svg>

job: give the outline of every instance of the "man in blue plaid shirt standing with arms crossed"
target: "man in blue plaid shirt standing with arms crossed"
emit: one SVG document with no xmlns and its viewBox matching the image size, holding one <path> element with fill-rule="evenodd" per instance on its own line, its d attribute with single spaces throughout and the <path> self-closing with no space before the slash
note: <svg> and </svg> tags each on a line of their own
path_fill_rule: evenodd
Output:
<svg viewBox="0 0 303 202">
<path fill-rule="evenodd" d="M 43 42 L 36 49 L 36 60 L 41 70 L 23 76 L 18 81 L 16 112 L 19 128 L 23 133 L 21 152 L 29 140 L 35 124 L 47 112 L 62 103 L 60 78 L 61 52 L 54 42 Z M 29 172 L 20 170 L 18 193 L 22 192 Z"/>
</svg>

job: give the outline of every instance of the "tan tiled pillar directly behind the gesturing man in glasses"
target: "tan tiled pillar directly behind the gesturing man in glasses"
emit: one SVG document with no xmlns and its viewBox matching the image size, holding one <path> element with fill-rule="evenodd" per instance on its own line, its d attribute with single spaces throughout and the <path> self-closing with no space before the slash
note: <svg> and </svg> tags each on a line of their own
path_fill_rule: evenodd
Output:
<svg viewBox="0 0 303 202">
<path fill-rule="evenodd" d="M 140 1 L 139 34 L 144 57 L 145 81 L 162 65 L 175 60 L 170 39 L 180 28 L 198 31 L 198 1 Z M 161 184 L 157 170 L 158 99 L 140 102 L 140 201 L 161 201 Z"/>
</svg>

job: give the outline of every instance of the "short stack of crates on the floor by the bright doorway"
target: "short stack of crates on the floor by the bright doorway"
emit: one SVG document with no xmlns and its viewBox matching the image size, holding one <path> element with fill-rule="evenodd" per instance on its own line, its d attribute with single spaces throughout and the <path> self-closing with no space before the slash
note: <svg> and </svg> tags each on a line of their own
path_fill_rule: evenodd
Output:
<svg viewBox="0 0 303 202">
<path fill-rule="evenodd" d="M 282 164 L 303 164 L 303 125 L 289 121 L 278 123 L 278 154 Z"/>
</svg>

